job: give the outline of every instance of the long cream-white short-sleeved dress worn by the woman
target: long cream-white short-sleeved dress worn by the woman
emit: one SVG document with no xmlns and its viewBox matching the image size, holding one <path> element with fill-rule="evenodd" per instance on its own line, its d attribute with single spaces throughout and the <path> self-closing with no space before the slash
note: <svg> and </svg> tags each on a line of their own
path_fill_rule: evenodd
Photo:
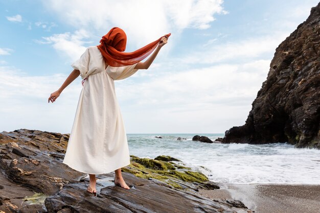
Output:
<svg viewBox="0 0 320 213">
<path fill-rule="evenodd" d="M 136 64 L 105 68 L 97 46 L 72 64 L 84 81 L 63 163 L 87 174 L 106 174 L 130 164 L 128 141 L 114 80 L 133 75 Z"/>
</svg>

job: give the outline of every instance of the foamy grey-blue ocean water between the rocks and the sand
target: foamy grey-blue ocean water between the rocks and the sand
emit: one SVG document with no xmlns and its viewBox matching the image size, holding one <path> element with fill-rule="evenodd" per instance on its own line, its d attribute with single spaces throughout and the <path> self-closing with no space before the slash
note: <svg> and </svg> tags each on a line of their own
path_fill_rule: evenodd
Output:
<svg viewBox="0 0 320 213">
<path fill-rule="evenodd" d="M 289 144 L 207 144 L 196 134 L 127 134 L 130 155 L 170 155 L 219 183 L 320 184 L 320 150 Z M 212 140 L 224 134 L 198 134 Z M 162 136 L 163 138 L 156 138 Z M 177 140 L 184 137 L 186 140 Z M 202 167 L 204 167 L 204 169 Z"/>
</svg>

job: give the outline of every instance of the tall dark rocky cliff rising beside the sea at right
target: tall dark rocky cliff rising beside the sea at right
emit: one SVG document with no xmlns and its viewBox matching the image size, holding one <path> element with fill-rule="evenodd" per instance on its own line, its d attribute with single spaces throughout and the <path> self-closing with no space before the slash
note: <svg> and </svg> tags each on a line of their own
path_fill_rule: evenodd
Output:
<svg viewBox="0 0 320 213">
<path fill-rule="evenodd" d="M 320 148 L 320 3 L 276 49 L 245 125 L 222 143 Z"/>
</svg>

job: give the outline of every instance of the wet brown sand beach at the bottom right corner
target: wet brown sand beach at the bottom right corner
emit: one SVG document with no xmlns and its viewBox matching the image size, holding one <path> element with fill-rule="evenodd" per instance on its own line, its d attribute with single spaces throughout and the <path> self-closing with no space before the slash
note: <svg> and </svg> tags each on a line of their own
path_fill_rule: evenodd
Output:
<svg viewBox="0 0 320 213">
<path fill-rule="evenodd" d="M 320 212 L 320 185 L 230 184 L 199 193 L 211 199 L 240 200 L 257 213 Z"/>
</svg>

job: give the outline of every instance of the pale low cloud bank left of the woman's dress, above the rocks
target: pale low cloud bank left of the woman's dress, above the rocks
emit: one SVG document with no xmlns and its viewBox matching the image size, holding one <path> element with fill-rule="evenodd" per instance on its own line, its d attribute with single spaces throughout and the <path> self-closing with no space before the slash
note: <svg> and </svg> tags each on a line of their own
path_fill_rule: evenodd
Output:
<svg viewBox="0 0 320 213">
<path fill-rule="evenodd" d="M 57 90 L 66 75 L 28 76 L 10 66 L 0 66 L 0 123 L 2 131 L 19 128 L 70 133 L 81 80 L 70 84 L 54 103 L 50 94 Z"/>
</svg>

